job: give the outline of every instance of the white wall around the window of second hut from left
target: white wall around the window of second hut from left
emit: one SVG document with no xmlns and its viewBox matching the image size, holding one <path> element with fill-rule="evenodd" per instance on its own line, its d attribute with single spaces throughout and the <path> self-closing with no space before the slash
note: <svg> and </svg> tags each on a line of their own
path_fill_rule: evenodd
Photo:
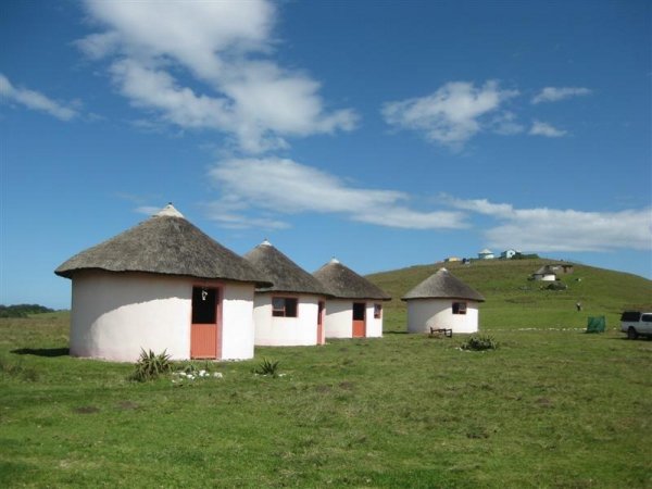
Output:
<svg viewBox="0 0 652 489">
<path fill-rule="evenodd" d="M 297 317 L 272 315 L 273 297 L 299 299 Z M 253 300 L 255 344 L 265 347 L 292 347 L 317 344 L 317 312 L 319 298 L 306 294 L 256 293 Z"/>
</svg>

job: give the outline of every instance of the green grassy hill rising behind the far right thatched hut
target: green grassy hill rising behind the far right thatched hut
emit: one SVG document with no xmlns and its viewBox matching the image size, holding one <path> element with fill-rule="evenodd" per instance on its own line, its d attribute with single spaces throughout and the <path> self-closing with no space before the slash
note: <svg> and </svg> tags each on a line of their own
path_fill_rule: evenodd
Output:
<svg viewBox="0 0 652 489">
<path fill-rule="evenodd" d="M 453 275 L 479 292 L 480 329 L 581 328 L 588 316 L 606 316 L 609 328 L 619 326 L 626 309 L 652 309 L 652 280 L 622 272 L 574 264 L 574 273 L 563 275 L 566 290 L 546 290 L 549 283 L 528 280 L 539 267 L 559 263 L 552 260 L 486 260 L 462 263 L 416 265 L 367 276 L 392 296 L 385 305 L 385 329 L 404 330 L 405 303 L 401 297 L 418 283 L 446 266 Z M 582 311 L 575 304 L 581 302 Z"/>
</svg>

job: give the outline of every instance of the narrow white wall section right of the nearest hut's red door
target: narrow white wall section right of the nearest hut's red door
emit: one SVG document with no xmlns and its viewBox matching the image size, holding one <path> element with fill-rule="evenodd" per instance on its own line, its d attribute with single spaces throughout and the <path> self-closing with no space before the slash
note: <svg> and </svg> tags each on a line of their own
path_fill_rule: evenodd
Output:
<svg viewBox="0 0 652 489">
<path fill-rule="evenodd" d="M 253 359 L 253 285 L 228 284 L 222 293 L 222 359 Z"/>
</svg>

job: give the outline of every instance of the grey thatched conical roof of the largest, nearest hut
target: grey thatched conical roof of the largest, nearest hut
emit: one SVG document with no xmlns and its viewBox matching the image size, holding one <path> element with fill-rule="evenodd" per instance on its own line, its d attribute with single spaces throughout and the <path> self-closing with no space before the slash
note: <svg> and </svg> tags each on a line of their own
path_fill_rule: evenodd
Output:
<svg viewBox="0 0 652 489">
<path fill-rule="evenodd" d="M 190 224 L 172 204 L 137 226 L 82 251 L 54 271 L 146 272 L 268 286 L 251 264 Z"/>
</svg>

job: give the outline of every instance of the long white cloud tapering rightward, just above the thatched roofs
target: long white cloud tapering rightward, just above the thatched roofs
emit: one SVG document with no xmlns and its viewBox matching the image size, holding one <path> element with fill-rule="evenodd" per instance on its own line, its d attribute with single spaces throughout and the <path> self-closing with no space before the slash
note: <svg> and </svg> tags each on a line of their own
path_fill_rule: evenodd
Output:
<svg viewBox="0 0 652 489">
<path fill-rule="evenodd" d="M 353 187 L 287 159 L 227 160 L 211 170 L 210 177 L 223 196 L 210 205 L 210 214 L 230 225 L 247 225 L 251 220 L 247 212 L 254 209 L 272 213 L 264 220 L 277 227 L 283 223 L 274 214 L 305 212 L 341 214 L 356 222 L 408 229 L 466 226 L 460 212 L 415 211 L 406 205 L 404 192 Z"/>
</svg>

